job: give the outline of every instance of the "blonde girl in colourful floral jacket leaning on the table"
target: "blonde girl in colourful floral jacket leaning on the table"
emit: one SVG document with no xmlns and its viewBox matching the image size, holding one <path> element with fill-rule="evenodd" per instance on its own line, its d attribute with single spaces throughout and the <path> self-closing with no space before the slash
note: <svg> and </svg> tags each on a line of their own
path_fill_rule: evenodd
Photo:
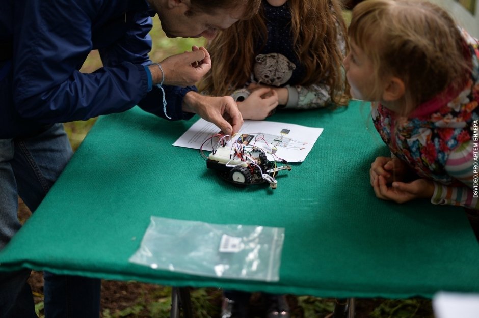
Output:
<svg viewBox="0 0 479 318">
<path fill-rule="evenodd" d="M 351 94 L 373 101 L 374 125 L 392 153 L 371 164 L 376 196 L 427 198 L 477 216 L 477 39 L 440 7 L 413 0 L 361 2 L 349 37 Z"/>
</svg>

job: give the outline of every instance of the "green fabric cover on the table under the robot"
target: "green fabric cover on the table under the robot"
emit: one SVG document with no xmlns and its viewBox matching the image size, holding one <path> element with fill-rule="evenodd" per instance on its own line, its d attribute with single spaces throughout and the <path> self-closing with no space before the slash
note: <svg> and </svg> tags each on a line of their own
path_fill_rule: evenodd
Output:
<svg viewBox="0 0 479 318">
<path fill-rule="evenodd" d="M 139 108 L 102 117 L 19 233 L 0 269 L 20 267 L 174 286 L 322 297 L 431 297 L 479 292 L 479 244 L 459 207 L 375 197 L 369 167 L 388 150 L 369 106 L 279 112 L 273 121 L 324 128 L 278 188 L 237 188 L 198 150 L 172 143 L 194 122 Z M 150 216 L 285 228 L 280 280 L 200 277 L 132 264 Z"/>
</svg>

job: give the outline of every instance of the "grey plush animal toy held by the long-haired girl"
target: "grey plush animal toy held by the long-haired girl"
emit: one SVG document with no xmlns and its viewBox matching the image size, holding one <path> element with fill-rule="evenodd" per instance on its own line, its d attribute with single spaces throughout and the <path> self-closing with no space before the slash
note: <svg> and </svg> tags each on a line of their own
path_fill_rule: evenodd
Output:
<svg viewBox="0 0 479 318">
<path fill-rule="evenodd" d="M 272 86 L 281 86 L 292 75 L 296 65 L 279 53 L 258 54 L 253 67 L 254 76 L 258 83 Z"/>
</svg>

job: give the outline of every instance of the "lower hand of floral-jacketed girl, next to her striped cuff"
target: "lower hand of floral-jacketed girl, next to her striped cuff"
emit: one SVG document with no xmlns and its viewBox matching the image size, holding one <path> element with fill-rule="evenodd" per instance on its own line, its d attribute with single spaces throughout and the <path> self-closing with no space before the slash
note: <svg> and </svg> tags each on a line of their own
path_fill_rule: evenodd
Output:
<svg viewBox="0 0 479 318">
<path fill-rule="evenodd" d="M 417 198 L 431 198 L 434 194 L 434 183 L 427 179 L 416 179 L 410 183 L 395 181 L 388 187 L 386 179 L 380 175 L 372 187 L 378 198 L 396 203 L 405 203 Z"/>
</svg>

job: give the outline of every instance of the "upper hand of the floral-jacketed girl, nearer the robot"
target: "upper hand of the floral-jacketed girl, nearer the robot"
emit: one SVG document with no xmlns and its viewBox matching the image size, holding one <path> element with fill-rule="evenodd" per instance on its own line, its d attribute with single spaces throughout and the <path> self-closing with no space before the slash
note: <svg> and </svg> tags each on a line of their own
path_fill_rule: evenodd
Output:
<svg viewBox="0 0 479 318">
<path fill-rule="evenodd" d="M 387 184 L 393 181 L 402 181 L 406 177 L 408 170 L 409 167 L 401 159 L 377 157 L 376 160 L 371 163 L 371 168 L 369 169 L 371 186 L 374 186 L 378 176 L 383 176 Z"/>
</svg>

